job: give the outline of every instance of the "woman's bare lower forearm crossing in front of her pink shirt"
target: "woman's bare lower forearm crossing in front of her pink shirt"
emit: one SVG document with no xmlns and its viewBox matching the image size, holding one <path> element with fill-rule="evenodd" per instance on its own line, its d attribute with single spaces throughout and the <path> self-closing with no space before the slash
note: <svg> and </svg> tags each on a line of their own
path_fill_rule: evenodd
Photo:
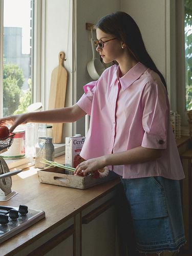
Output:
<svg viewBox="0 0 192 256">
<path fill-rule="evenodd" d="M 153 161 L 162 155 L 162 150 L 138 146 L 120 153 L 103 156 L 105 165 L 135 164 Z"/>
</svg>

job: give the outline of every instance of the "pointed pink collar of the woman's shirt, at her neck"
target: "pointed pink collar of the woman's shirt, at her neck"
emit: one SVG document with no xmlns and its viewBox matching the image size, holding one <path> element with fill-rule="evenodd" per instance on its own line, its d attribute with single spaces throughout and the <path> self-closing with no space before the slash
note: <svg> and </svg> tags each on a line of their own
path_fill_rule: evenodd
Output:
<svg viewBox="0 0 192 256">
<path fill-rule="evenodd" d="M 135 82 L 148 68 L 145 67 L 141 62 L 137 62 L 137 64 L 131 68 L 124 76 L 119 78 L 119 66 L 117 67 L 116 72 L 113 75 L 112 78 L 112 84 L 115 83 L 116 80 L 119 80 L 121 83 L 121 88 L 122 90 L 125 90 L 133 82 Z"/>
</svg>

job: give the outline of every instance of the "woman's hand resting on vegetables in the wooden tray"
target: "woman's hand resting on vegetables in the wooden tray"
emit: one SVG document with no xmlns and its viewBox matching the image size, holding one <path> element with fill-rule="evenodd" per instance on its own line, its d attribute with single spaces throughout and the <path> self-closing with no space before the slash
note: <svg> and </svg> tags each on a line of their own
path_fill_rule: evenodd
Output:
<svg viewBox="0 0 192 256">
<path fill-rule="evenodd" d="M 77 175 L 83 171 L 83 175 L 86 176 L 88 173 L 93 172 L 94 170 L 104 168 L 104 166 L 104 157 L 92 158 L 78 164 L 75 168 L 74 174 Z"/>
</svg>

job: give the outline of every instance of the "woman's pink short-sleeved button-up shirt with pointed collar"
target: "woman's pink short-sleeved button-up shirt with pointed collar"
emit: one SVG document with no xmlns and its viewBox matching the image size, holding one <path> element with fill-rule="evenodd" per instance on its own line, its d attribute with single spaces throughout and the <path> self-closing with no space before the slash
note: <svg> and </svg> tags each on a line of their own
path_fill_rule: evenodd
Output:
<svg viewBox="0 0 192 256">
<path fill-rule="evenodd" d="M 143 146 L 164 149 L 156 160 L 113 166 L 123 178 L 163 176 L 180 180 L 184 173 L 169 121 L 166 89 L 158 74 L 138 62 L 119 78 L 119 66 L 106 69 L 84 86 L 78 106 L 91 116 L 81 157 L 91 159 Z"/>
</svg>

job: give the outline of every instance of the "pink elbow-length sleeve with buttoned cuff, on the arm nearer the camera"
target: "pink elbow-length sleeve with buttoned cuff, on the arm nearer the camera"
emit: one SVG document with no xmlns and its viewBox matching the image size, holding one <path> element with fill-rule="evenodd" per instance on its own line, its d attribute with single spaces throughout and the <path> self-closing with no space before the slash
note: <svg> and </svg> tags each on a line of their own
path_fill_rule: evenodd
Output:
<svg viewBox="0 0 192 256">
<path fill-rule="evenodd" d="M 162 84 L 147 84 L 143 93 L 144 135 L 141 146 L 163 149 L 167 144 L 168 98 Z"/>
</svg>

